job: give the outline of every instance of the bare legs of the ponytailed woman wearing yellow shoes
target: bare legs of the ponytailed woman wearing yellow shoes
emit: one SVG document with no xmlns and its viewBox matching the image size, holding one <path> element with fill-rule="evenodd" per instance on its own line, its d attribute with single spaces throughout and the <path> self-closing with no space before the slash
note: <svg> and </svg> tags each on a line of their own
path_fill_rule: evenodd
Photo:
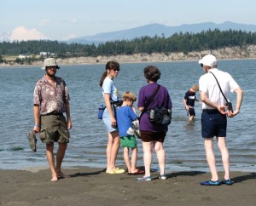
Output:
<svg viewBox="0 0 256 206">
<path fill-rule="evenodd" d="M 114 131 L 108 133 L 108 146 L 107 146 L 107 170 L 106 172 L 112 172 L 115 169 L 115 160 L 119 152 L 120 140 L 119 132 Z"/>
</svg>

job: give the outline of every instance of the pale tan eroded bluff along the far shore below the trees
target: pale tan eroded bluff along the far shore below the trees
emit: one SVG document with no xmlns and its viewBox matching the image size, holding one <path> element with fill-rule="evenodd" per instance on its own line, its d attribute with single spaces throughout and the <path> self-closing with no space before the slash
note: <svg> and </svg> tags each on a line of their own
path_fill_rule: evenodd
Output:
<svg viewBox="0 0 256 206">
<path fill-rule="evenodd" d="M 204 50 L 201 52 L 183 52 L 177 53 L 152 53 L 152 54 L 131 54 L 131 55 L 111 55 L 111 56 L 96 56 L 96 57 L 75 57 L 60 59 L 57 62 L 60 66 L 73 66 L 73 65 L 95 65 L 106 64 L 109 60 L 115 60 L 120 64 L 125 63 L 146 63 L 146 62 L 177 62 L 177 61 L 198 61 L 205 54 L 214 54 L 217 60 L 254 60 L 256 59 L 256 45 L 248 45 L 244 48 L 231 47 L 224 49 Z M 43 61 L 34 61 L 32 65 L 0 64 L 0 68 L 8 67 L 27 67 L 27 66 L 43 66 Z"/>
</svg>

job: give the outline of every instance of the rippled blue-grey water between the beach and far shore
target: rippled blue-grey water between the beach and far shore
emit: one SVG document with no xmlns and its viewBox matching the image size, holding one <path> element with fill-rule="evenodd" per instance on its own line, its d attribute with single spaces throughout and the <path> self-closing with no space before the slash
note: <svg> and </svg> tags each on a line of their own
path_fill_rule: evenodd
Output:
<svg viewBox="0 0 256 206">
<path fill-rule="evenodd" d="M 201 106 L 195 106 L 196 120 L 188 125 L 183 95 L 203 74 L 196 61 L 171 63 L 121 64 L 115 83 L 120 94 L 131 90 L 138 94 L 146 84 L 143 68 L 156 65 L 162 73 L 160 84 L 172 97 L 172 124 L 166 136 L 166 169 L 172 171 L 208 171 L 203 139 L 201 138 Z M 230 72 L 244 90 L 241 113 L 228 120 L 227 142 L 230 149 L 231 170 L 256 171 L 255 140 L 255 79 L 256 60 L 220 60 L 219 69 Z M 71 95 L 73 129 L 63 166 L 106 166 L 107 131 L 97 119 L 97 107 L 102 104 L 98 86 L 104 65 L 61 66 L 57 76 L 67 82 Z M 45 145 L 38 140 L 38 152 L 32 152 L 26 133 L 33 127 L 32 93 L 44 71 L 40 67 L 0 68 L 0 169 L 26 169 L 47 166 Z M 197 94 L 198 95 L 198 94 Z M 236 94 L 230 94 L 235 105 Z M 137 107 L 137 105 L 136 105 Z M 143 165 L 143 148 L 138 142 L 137 165 Z M 57 147 L 57 145 L 55 145 Z M 56 148 L 55 148 L 56 149 Z M 222 169 L 221 157 L 215 143 L 217 165 Z M 125 165 L 119 149 L 118 165 Z M 158 164 L 154 155 L 153 168 Z"/>
</svg>

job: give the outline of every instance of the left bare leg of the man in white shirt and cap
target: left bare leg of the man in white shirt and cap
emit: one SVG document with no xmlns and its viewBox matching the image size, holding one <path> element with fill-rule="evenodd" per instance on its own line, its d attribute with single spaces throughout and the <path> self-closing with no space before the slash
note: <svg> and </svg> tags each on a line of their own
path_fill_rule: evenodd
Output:
<svg viewBox="0 0 256 206">
<path fill-rule="evenodd" d="M 205 138 L 205 149 L 207 154 L 207 163 L 212 174 L 212 181 L 216 181 L 218 180 L 218 174 L 215 164 L 215 156 L 213 152 L 213 138 Z"/>
</svg>

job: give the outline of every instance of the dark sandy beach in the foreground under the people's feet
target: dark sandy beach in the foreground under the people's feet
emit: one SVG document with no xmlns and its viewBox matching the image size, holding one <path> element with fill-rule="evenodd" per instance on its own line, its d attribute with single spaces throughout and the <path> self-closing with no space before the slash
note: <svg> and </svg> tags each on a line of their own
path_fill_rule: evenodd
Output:
<svg viewBox="0 0 256 206">
<path fill-rule="evenodd" d="M 63 169 L 69 177 L 50 181 L 49 169 L 0 170 L 1 205 L 255 205 L 255 173 L 231 172 L 232 186 L 201 186 L 204 172 L 167 174 L 167 180 L 137 182 L 137 175 L 104 169 Z M 223 177 L 223 172 L 219 177 Z"/>
</svg>

